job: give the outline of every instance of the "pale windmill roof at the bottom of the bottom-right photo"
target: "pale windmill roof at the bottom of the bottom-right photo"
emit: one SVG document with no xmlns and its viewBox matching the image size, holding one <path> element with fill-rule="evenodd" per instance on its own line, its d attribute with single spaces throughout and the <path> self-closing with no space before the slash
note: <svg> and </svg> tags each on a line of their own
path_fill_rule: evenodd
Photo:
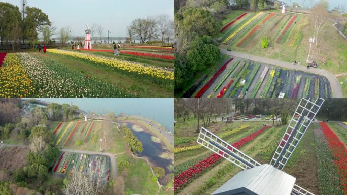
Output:
<svg viewBox="0 0 347 195">
<path fill-rule="evenodd" d="M 237 173 L 213 195 L 290 195 L 295 180 L 295 177 L 264 164 Z"/>
</svg>

